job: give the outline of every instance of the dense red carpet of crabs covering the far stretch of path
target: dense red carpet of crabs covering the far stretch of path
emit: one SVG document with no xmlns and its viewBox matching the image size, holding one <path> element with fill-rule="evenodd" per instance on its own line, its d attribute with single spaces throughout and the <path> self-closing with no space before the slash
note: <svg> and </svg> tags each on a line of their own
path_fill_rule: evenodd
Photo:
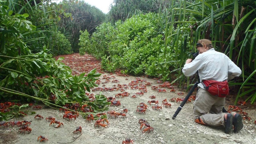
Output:
<svg viewBox="0 0 256 144">
<path fill-rule="evenodd" d="M 101 69 L 101 61 L 89 54 L 80 56 L 79 53 L 72 53 L 56 56 L 55 59 L 57 60 L 59 57 L 64 57 L 64 60 L 61 62 L 72 69 L 72 75 L 79 75 L 83 72 L 89 73 L 94 68 L 96 68 L 98 73 L 104 74 L 103 69 Z"/>
</svg>

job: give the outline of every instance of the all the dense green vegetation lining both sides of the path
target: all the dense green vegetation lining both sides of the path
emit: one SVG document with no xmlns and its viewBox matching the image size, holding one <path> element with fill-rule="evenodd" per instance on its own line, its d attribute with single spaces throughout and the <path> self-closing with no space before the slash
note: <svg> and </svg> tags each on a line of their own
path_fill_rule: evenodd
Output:
<svg viewBox="0 0 256 144">
<path fill-rule="evenodd" d="M 96 86 L 100 74 L 94 69 L 72 75 L 63 58 L 53 58 L 78 51 L 101 59 L 106 71 L 121 69 L 189 88 L 196 77 L 184 77 L 181 69 L 197 40 L 206 38 L 242 69 L 229 82 L 236 102 L 246 96 L 254 103 L 255 9 L 253 0 L 115 0 L 106 15 L 78 0 L 0 0 L 0 99 L 49 106 L 88 102 L 85 91 Z M 97 98 L 91 106 L 103 110 L 108 103 Z"/>
</svg>

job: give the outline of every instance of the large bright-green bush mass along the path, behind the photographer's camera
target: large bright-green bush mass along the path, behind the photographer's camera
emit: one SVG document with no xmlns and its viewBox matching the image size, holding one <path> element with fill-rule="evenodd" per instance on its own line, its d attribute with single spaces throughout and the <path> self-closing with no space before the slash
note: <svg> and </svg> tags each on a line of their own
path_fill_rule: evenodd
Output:
<svg viewBox="0 0 256 144">
<path fill-rule="evenodd" d="M 167 80 L 174 66 L 170 48 L 165 49 L 163 22 L 159 14 L 135 15 L 114 26 L 103 23 L 91 36 L 91 47 L 86 49 L 102 60 L 102 69 L 114 72 L 122 69 L 131 75 L 149 75 Z M 165 58 L 163 56 L 165 51 Z"/>
</svg>

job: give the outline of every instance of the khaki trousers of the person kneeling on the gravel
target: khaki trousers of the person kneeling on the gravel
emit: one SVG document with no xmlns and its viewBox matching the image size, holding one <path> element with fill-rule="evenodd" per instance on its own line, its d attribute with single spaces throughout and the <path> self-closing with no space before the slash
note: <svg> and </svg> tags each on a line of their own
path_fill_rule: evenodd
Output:
<svg viewBox="0 0 256 144">
<path fill-rule="evenodd" d="M 224 126 L 222 107 L 225 105 L 225 97 L 211 95 L 203 88 L 198 88 L 194 102 L 194 118 L 201 118 L 204 123 L 212 126 Z"/>
</svg>

